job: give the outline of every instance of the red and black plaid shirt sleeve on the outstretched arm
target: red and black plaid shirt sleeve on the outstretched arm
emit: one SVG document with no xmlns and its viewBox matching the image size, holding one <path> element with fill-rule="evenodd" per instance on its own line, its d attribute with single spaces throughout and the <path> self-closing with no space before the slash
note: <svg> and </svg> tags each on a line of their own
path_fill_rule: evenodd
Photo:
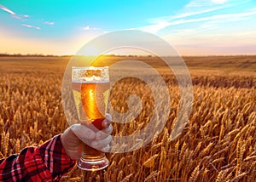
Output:
<svg viewBox="0 0 256 182">
<path fill-rule="evenodd" d="M 0 160 L 0 181 L 54 181 L 69 172 L 76 161 L 67 156 L 61 134 L 38 147 Z"/>
</svg>

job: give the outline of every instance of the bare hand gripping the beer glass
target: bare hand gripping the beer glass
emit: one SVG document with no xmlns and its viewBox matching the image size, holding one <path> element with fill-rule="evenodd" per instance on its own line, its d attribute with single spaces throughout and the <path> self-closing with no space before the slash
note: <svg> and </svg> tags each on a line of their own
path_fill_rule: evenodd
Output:
<svg viewBox="0 0 256 182">
<path fill-rule="evenodd" d="M 61 135 L 61 144 L 63 145 L 67 156 L 73 160 L 78 160 L 82 156 L 83 145 L 85 142 L 98 150 L 108 151 L 108 144 L 112 139 L 110 134 L 113 131 L 111 121 L 111 115 L 106 114 L 106 119 L 102 122 L 102 127 L 104 129 L 96 133 L 81 124 L 73 124 L 71 127 L 67 128 Z M 83 139 L 84 142 L 81 139 Z"/>
</svg>

